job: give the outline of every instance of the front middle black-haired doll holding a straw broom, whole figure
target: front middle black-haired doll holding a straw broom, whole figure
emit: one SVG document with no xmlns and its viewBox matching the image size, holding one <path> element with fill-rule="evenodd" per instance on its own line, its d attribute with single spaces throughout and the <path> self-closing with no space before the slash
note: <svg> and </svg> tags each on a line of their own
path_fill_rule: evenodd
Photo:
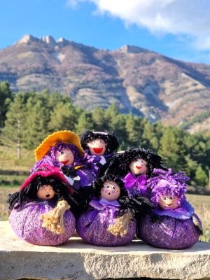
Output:
<svg viewBox="0 0 210 280">
<path fill-rule="evenodd" d="M 123 181 L 107 174 L 94 181 L 93 189 L 87 211 L 76 221 L 78 235 L 97 246 L 129 244 L 136 232 L 136 221 L 130 209 L 125 207 L 122 211 L 122 198 L 127 197 Z"/>
</svg>

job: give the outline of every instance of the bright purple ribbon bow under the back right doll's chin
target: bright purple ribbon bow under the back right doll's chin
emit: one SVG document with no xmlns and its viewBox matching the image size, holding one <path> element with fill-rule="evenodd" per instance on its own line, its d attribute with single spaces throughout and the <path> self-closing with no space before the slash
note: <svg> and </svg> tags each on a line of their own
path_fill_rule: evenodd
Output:
<svg viewBox="0 0 210 280">
<path fill-rule="evenodd" d="M 131 172 L 128 173 L 123 179 L 123 182 L 125 183 L 125 188 L 127 188 L 127 190 L 130 190 L 133 186 L 137 186 L 138 190 L 145 190 L 146 181 L 146 175 L 139 175 L 138 177 L 136 177 Z"/>
</svg>

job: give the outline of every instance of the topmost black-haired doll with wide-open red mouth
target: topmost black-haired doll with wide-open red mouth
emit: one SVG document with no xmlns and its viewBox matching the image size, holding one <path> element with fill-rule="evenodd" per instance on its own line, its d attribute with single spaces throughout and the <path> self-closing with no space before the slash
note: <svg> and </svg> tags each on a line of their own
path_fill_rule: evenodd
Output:
<svg viewBox="0 0 210 280">
<path fill-rule="evenodd" d="M 119 146 L 114 132 L 90 130 L 85 130 L 80 135 L 80 144 L 85 150 L 84 158 L 92 165 L 96 177 L 103 175 L 104 165 L 109 163 Z"/>
</svg>

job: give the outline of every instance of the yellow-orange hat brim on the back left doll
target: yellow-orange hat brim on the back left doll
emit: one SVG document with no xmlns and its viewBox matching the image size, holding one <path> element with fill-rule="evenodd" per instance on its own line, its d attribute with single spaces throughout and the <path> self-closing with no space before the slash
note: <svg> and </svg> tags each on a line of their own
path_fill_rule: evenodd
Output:
<svg viewBox="0 0 210 280">
<path fill-rule="evenodd" d="M 41 144 L 34 150 L 35 160 L 41 160 L 58 142 L 66 142 L 78 148 L 80 155 L 84 155 L 84 150 L 80 145 L 80 139 L 77 134 L 70 130 L 61 130 L 54 132 L 46 137 Z"/>
</svg>

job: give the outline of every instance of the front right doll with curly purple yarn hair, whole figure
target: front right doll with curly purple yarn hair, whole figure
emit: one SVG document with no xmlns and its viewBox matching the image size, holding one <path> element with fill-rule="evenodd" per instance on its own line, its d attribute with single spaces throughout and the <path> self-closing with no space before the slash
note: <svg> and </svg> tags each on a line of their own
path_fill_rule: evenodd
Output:
<svg viewBox="0 0 210 280">
<path fill-rule="evenodd" d="M 154 169 L 156 176 L 148 180 L 153 214 L 138 224 L 138 236 L 147 244 L 159 248 L 183 249 L 193 246 L 202 234 L 202 223 L 186 201 L 186 181 L 183 172 Z"/>
</svg>

